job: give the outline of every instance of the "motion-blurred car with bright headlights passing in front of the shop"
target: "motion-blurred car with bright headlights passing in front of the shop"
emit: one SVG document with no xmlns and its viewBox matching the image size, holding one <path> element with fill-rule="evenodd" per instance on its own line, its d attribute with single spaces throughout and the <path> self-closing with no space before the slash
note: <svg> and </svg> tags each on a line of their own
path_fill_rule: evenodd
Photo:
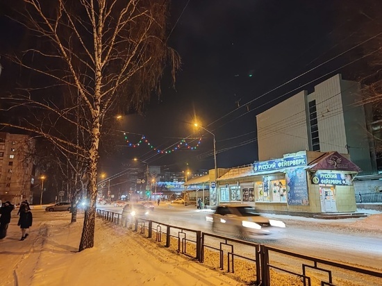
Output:
<svg viewBox="0 0 382 286">
<path fill-rule="evenodd" d="M 206 220 L 212 222 L 214 233 L 240 239 L 254 239 L 285 228 L 283 221 L 263 217 L 249 205 L 219 205 L 215 213 L 206 216 Z"/>
</svg>

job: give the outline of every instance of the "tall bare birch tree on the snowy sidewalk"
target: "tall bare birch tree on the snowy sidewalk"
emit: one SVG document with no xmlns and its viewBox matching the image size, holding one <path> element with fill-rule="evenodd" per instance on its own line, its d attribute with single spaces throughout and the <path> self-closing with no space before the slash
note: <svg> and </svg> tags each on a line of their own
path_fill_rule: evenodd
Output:
<svg viewBox="0 0 382 286">
<path fill-rule="evenodd" d="M 167 45 L 169 0 L 22 2 L 17 19 L 35 42 L 13 60 L 48 79 L 8 96 L 8 108 L 31 112 L 8 126 L 38 133 L 86 160 L 90 206 L 82 251 L 94 246 L 99 144 L 108 121 L 117 107 L 140 110 L 151 92 L 160 92 L 166 63 L 173 78 L 179 67 L 178 54 Z M 63 124 L 72 135 L 83 133 L 83 140 L 61 132 Z"/>
</svg>

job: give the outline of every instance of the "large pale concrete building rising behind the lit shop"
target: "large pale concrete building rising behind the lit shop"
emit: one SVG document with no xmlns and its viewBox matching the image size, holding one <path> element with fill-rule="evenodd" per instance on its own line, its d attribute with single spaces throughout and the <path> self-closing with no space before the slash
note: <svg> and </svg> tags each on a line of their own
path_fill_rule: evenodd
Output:
<svg viewBox="0 0 382 286">
<path fill-rule="evenodd" d="M 340 74 L 257 115 L 259 160 L 300 150 L 349 154 L 361 175 L 377 174 L 360 85 Z"/>
</svg>

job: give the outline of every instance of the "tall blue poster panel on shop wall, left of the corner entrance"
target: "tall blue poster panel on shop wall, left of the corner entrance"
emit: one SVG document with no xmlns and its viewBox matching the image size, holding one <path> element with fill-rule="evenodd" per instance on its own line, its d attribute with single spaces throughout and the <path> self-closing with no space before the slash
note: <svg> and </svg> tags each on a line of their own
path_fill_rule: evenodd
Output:
<svg viewBox="0 0 382 286">
<path fill-rule="evenodd" d="M 309 205 L 308 184 L 304 168 L 288 169 L 285 173 L 288 205 Z"/>
</svg>

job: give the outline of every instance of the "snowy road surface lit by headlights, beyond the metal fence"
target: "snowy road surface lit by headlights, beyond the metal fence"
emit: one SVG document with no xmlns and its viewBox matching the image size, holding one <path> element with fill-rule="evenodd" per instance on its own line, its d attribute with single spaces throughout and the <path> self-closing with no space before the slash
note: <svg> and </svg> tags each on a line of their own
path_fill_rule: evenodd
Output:
<svg viewBox="0 0 382 286">
<path fill-rule="evenodd" d="M 122 212 L 122 208 L 99 206 L 100 209 Z M 206 221 L 206 210 L 197 210 L 193 206 L 161 203 L 149 219 L 183 228 L 212 233 L 211 225 Z M 265 214 L 267 215 L 267 214 Z M 272 215 L 274 219 L 277 218 Z M 382 271 L 381 233 L 363 233 L 330 227 L 322 220 L 292 217 L 287 228 L 273 236 L 259 237 L 260 242 L 279 249 L 292 251 L 315 258 L 351 264 L 376 271 Z M 286 222 L 286 221 L 285 221 Z M 329 226 L 328 226 L 329 225 Z M 382 231 L 382 230 L 381 230 Z"/>
</svg>

